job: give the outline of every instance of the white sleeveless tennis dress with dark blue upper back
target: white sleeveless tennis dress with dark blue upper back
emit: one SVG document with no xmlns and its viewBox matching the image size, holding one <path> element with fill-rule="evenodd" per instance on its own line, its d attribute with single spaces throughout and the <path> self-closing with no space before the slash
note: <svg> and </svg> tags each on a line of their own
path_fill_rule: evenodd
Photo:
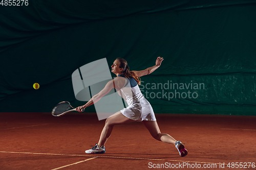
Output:
<svg viewBox="0 0 256 170">
<path fill-rule="evenodd" d="M 120 77 L 124 77 L 123 75 L 118 75 Z M 155 113 L 153 111 L 153 108 L 148 102 L 143 94 L 140 91 L 140 88 L 137 84 L 137 82 L 130 77 L 130 80 L 126 79 L 125 86 L 120 89 L 122 92 L 119 94 L 122 96 L 122 98 L 126 101 L 128 106 L 120 112 L 127 118 L 130 118 L 132 120 L 136 121 L 143 121 L 143 120 L 150 120 L 150 121 L 156 121 Z"/>
</svg>

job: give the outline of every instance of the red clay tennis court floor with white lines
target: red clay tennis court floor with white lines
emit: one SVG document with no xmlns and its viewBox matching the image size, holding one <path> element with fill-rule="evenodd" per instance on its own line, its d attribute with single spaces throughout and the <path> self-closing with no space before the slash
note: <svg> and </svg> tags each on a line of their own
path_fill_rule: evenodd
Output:
<svg viewBox="0 0 256 170">
<path fill-rule="evenodd" d="M 86 154 L 105 122 L 96 113 L 0 116 L 0 169 L 256 169 L 256 116 L 156 114 L 161 132 L 185 143 L 185 157 L 139 122 L 115 126 L 106 153 Z"/>
</svg>

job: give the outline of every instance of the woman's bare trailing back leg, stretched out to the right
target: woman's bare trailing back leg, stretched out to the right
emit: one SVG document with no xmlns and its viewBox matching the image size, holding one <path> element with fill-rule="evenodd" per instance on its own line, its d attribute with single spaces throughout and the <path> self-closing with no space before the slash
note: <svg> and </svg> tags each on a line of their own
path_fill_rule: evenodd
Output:
<svg viewBox="0 0 256 170">
<path fill-rule="evenodd" d="M 166 143 L 172 143 L 175 145 L 175 140 L 172 136 L 166 134 L 166 133 L 161 133 L 157 121 L 142 121 L 144 126 L 147 128 L 148 131 L 150 131 L 150 134 L 157 140 L 166 142 Z"/>
</svg>

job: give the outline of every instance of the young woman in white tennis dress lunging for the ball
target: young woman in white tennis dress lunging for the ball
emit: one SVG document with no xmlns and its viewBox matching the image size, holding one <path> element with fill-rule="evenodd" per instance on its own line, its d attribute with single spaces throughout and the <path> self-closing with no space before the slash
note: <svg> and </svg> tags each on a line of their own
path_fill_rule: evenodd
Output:
<svg viewBox="0 0 256 170">
<path fill-rule="evenodd" d="M 76 110 L 81 112 L 81 109 L 98 102 L 105 94 L 109 93 L 112 88 L 115 88 L 118 91 L 119 95 L 122 96 L 129 106 L 106 119 L 99 142 L 96 143 L 95 147 L 87 150 L 86 153 L 104 153 L 104 145 L 106 140 L 108 140 L 110 137 L 112 129 L 115 125 L 141 121 L 155 139 L 166 143 L 172 143 L 176 146 L 180 156 L 187 155 L 187 150 L 185 149 L 183 143 L 175 140 L 172 136 L 166 133 L 160 132 L 153 108 L 144 98 L 138 86 L 140 85 L 139 77 L 151 74 L 158 67 L 160 67 L 162 61 L 163 58 L 158 57 L 156 60 L 156 65 L 141 71 L 130 71 L 127 62 L 122 58 L 117 58 L 114 61 L 111 68 L 112 72 L 117 77 L 108 82 L 105 87 L 98 94 L 94 95 L 88 103 L 77 107 Z"/>
</svg>

